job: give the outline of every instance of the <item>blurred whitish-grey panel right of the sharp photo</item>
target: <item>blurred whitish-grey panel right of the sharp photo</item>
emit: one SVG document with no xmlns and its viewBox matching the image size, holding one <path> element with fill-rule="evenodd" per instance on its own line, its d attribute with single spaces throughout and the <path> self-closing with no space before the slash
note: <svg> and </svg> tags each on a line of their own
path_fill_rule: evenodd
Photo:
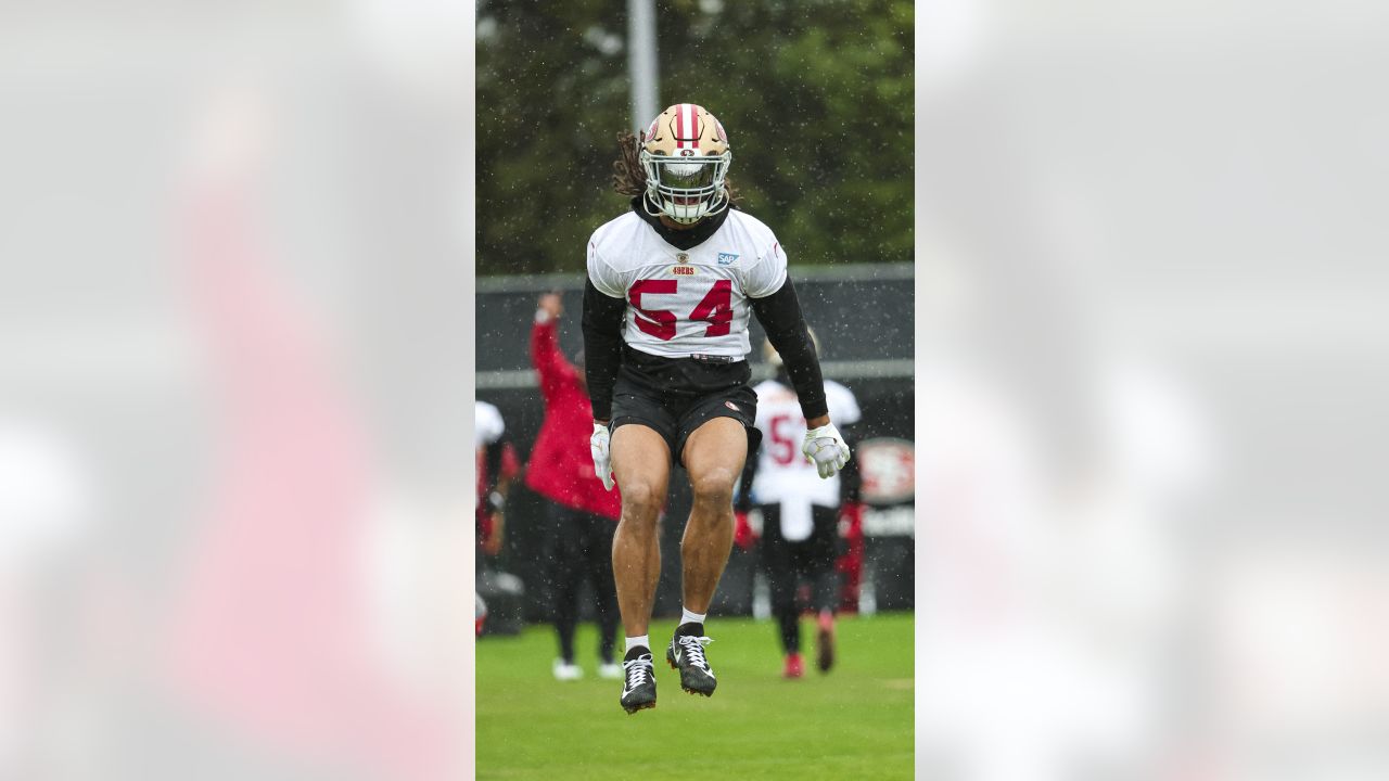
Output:
<svg viewBox="0 0 1389 781">
<path fill-rule="evenodd" d="M 1389 8 L 918 10 L 918 777 L 1389 777 Z"/>
</svg>

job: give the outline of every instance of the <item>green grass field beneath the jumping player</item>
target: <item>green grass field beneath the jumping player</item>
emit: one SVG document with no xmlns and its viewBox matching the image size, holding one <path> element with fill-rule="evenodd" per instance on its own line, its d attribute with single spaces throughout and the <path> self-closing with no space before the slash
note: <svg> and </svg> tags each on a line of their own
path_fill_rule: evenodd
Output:
<svg viewBox="0 0 1389 781">
<path fill-rule="evenodd" d="M 668 639 L 674 621 L 651 624 Z M 582 681 L 550 674 L 554 632 L 531 627 L 478 643 L 478 778 L 911 778 L 911 614 L 839 621 L 839 660 L 814 670 L 814 624 L 803 621 L 807 673 L 781 677 L 771 621 L 717 618 L 710 661 L 718 691 L 681 691 L 654 650 L 657 707 L 628 716 L 622 684 L 597 677 L 596 635 L 576 641 Z M 664 646 L 663 646 L 664 648 Z M 621 639 L 618 639 L 621 655 Z"/>
</svg>

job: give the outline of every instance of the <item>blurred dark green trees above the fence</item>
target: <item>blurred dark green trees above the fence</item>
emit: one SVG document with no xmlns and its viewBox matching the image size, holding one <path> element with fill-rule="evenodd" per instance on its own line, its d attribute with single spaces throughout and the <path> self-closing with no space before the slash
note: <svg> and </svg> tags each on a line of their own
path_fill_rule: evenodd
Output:
<svg viewBox="0 0 1389 781">
<path fill-rule="evenodd" d="M 631 126 L 622 0 L 478 11 L 478 272 L 583 270 L 621 214 Z M 728 128 L 745 208 L 793 264 L 906 261 L 913 246 L 913 4 L 658 4 L 661 106 Z"/>
</svg>

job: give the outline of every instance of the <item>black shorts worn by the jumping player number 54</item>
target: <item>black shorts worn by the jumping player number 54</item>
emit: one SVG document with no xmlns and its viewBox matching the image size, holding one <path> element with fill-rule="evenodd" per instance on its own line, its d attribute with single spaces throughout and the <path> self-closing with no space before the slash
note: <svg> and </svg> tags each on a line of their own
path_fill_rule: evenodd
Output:
<svg viewBox="0 0 1389 781">
<path fill-rule="evenodd" d="M 608 429 L 629 422 L 647 425 L 665 439 L 675 463 L 683 466 L 681 456 L 690 434 L 717 417 L 729 417 L 747 429 L 751 457 L 761 439 L 753 425 L 757 393 L 751 378 L 747 361 L 663 359 L 624 346 Z"/>
</svg>

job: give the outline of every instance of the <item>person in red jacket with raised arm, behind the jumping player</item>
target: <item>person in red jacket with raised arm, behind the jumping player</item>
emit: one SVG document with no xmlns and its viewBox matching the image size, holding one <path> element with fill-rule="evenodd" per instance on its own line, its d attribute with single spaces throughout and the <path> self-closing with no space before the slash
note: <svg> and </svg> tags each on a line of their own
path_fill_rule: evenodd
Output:
<svg viewBox="0 0 1389 781">
<path fill-rule="evenodd" d="M 593 585 L 599 620 L 599 675 L 621 678 L 615 663 L 617 589 L 613 582 L 613 532 L 622 513 L 617 491 L 603 489 L 593 472 L 589 453 L 592 417 L 583 371 L 575 368 L 560 352 L 560 296 L 546 293 L 535 313 L 531 329 L 531 361 L 540 375 L 544 396 L 544 422 L 531 452 L 525 482 L 531 491 L 549 500 L 554 553 L 554 631 L 560 639 L 560 659 L 554 677 L 578 680 L 583 670 L 574 661 L 574 630 L 579 617 L 579 585 L 585 577 Z"/>
</svg>

